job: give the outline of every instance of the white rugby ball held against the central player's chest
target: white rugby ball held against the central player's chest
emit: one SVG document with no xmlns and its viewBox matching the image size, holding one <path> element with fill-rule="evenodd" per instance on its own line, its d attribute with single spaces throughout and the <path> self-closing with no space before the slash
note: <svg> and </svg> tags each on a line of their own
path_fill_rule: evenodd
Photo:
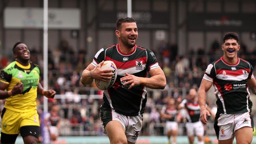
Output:
<svg viewBox="0 0 256 144">
<path fill-rule="evenodd" d="M 112 85 L 115 83 L 115 80 L 117 79 L 117 66 L 113 61 L 104 61 L 104 63 L 101 66 L 102 70 L 111 69 L 113 76 L 112 78 L 106 82 L 101 81 L 98 79 L 95 79 L 95 84 L 100 90 L 106 90 L 112 87 Z"/>
</svg>

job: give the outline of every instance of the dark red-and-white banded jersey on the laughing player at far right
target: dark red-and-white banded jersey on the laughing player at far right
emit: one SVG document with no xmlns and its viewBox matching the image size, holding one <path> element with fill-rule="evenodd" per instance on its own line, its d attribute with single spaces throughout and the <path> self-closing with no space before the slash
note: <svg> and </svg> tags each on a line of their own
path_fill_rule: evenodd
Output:
<svg viewBox="0 0 256 144">
<path fill-rule="evenodd" d="M 208 65 L 204 79 L 213 82 L 217 98 L 217 114 L 245 113 L 252 108 L 247 79 L 254 78 L 249 62 L 238 58 L 232 65 L 223 57 Z"/>
</svg>

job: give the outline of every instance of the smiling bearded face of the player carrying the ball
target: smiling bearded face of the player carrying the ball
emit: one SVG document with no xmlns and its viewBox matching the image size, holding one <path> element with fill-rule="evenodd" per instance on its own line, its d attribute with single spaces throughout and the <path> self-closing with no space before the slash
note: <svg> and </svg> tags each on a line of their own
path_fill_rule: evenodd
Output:
<svg viewBox="0 0 256 144">
<path fill-rule="evenodd" d="M 120 30 L 115 31 L 119 43 L 127 48 L 133 48 L 138 38 L 138 28 L 135 22 L 123 22 Z"/>
</svg>

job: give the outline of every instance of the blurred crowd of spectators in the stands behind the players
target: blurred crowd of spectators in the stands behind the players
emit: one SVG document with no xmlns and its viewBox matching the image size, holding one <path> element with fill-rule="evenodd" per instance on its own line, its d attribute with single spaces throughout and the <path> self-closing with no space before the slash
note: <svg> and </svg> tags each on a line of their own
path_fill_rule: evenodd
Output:
<svg viewBox="0 0 256 144">
<path fill-rule="evenodd" d="M 145 114 L 143 114 L 143 129 L 141 135 L 163 135 L 164 120 L 160 116 L 161 108 L 167 104 L 168 98 L 173 97 L 176 103 L 188 95 L 191 87 L 198 88 L 204 71 L 210 61 L 221 57 L 221 44 L 213 41 L 208 52 L 204 48 L 190 48 L 187 54 L 178 55 L 176 44 L 160 44 L 154 53 L 167 78 L 164 90 L 149 90 Z M 241 44 L 239 57 L 249 61 L 255 70 L 256 49 L 247 51 L 247 46 Z M 153 49 L 154 51 L 154 49 Z M 40 66 L 43 74 L 42 49 L 30 48 L 31 61 Z M 0 69 L 8 65 L 13 59 L 0 57 Z M 54 89 L 61 98 L 48 100 L 48 109 L 59 105 L 61 119 L 60 135 L 104 135 L 99 118 L 99 108 L 102 103 L 100 98 L 81 98 L 79 95 L 102 95 L 102 90 L 94 85 L 82 85 L 80 76 L 83 69 L 91 63 L 92 59 L 86 58 L 86 50 L 74 51 L 69 42 L 63 39 L 57 48 L 48 51 L 48 87 Z M 254 72 L 255 74 L 255 72 Z M 43 77 L 41 77 L 43 78 Z M 43 79 L 41 79 L 43 85 Z M 216 109 L 215 101 L 208 101 L 212 109 Z M 38 96 L 39 113 L 43 109 L 43 96 Z M 4 100 L 0 101 L 0 109 L 4 107 Z M 50 118 L 51 119 L 51 118 Z M 181 118 L 181 123 L 186 122 Z M 210 122 L 213 122 L 211 119 Z M 161 126 L 157 126 L 160 124 Z M 68 127 L 67 127 L 68 126 Z M 150 127 L 155 130 L 149 133 Z M 179 134 L 185 135 L 186 131 Z"/>
</svg>

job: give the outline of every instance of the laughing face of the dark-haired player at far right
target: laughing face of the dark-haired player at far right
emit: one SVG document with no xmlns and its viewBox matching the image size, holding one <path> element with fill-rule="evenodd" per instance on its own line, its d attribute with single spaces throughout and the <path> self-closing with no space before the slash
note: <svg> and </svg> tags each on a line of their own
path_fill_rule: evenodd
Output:
<svg viewBox="0 0 256 144">
<path fill-rule="evenodd" d="M 237 59 L 237 52 L 240 49 L 240 45 L 235 39 L 226 39 L 222 44 L 221 49 L 224 52 L 224 57 L 227 59 Z"/>
</svg>

